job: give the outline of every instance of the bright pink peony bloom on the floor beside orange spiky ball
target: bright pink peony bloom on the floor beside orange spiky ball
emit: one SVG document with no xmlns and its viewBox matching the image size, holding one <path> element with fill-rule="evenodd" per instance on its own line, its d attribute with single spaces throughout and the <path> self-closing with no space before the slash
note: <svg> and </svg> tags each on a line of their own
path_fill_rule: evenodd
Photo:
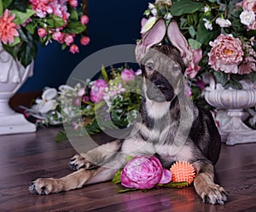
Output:
<svg viewBox="0 0 256 212">
<path fill-rule="evenodd" d="M 163 169 L 159 159 L 154 156 L 132 158 L 121 173 L 121 184 L 128 188 L 150 189 L 171 180 L 171 171 Z"/>
</svg>

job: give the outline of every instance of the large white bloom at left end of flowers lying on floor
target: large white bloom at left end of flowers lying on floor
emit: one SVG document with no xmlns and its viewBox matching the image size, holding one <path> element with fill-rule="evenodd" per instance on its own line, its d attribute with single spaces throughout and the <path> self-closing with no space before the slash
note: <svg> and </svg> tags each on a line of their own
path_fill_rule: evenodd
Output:
<svg viewBox="0 0 256 212">
<path fill-rule="evenodd" d="M 32 106 L 32 110 L 39 113 L 47 113 L 55 110 L 58 105 L 55 97 L 57 95 L 56 89 L 46 89 L 42 95 L 42 99 L 37 99 L 37 105 Z"/>
</svg>

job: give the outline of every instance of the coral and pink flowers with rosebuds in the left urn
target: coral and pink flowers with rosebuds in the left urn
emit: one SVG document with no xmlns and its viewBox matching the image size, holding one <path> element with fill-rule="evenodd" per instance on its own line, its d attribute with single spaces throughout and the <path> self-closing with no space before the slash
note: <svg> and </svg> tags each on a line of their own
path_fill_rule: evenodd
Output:
<svg viewBox="0 0 256 212">
<path fill-rule="evenodd" d="M 87 45 L 90 37 L 82 34 L 89 22 L 82 13 L 85 5 L 78 0 L 8 0 L 0 1 L 0 42 L 23 66 L 36 58 L 38 44 L 47 46 L 54 40 L 61 48 L 79 52 L 74 43 Z"/>
</svg>

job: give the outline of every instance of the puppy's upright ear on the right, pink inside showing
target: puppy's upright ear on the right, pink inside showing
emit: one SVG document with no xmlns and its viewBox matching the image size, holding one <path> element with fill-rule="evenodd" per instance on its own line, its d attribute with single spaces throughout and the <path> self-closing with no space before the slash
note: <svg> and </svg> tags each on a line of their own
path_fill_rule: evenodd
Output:
<svg viewBox="0 0 256 212">
<path fill-rule="evenodd" d="M 172 20 L 167 27 L 167 37 L 172 45 L 179 50 L 185 66 L 189 66 L 193 59 L 193 54 L 189 43 L 178 28 L 176 20 Z"/>
</svg>

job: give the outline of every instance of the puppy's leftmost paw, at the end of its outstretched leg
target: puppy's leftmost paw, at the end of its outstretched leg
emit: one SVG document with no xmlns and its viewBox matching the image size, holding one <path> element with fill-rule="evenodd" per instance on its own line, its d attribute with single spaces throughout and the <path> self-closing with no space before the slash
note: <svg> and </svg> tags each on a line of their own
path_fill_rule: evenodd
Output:
<svg viewBox="0 0 256 212">
<path fill-rule="evenodd" d="M 33 180 L 28 190 L 33 194 L 48 195 L 50 192 L 54 192 L 56 188 L 56 180 L 53 178 L 38 178 Z"/>
</svg>

